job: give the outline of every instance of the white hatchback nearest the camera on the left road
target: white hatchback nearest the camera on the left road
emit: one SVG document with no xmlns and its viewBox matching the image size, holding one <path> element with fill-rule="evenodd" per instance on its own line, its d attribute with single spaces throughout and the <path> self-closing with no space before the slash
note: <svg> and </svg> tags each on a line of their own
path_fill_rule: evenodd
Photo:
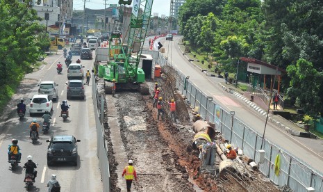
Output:
<svg viewBox="0 0 323 192">
<path fill-rule="evenodd" d="M 34 113 L 45 113 L 53 110 L 53 102 L 48 95 L 34 95 L 29 104 L 29 113 L 32 116 Z"/>
</svg>

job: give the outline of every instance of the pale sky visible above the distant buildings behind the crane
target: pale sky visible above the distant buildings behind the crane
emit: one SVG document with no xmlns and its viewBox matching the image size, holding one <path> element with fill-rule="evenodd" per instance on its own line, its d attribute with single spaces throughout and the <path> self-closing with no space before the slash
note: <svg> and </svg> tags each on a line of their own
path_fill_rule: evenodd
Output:
<svg viewBox="0 0 323 192">
<path fill-rule="evenodd" d="M 74 10 L 84 10 L 84 1 L 83 0 L 74 0 L 73 1 Z M 106 0 L 106 7 L 108 8 L 108 4 L 117 4 L 118 0 Z M 169 16 L 169 7 L 170 0 L 154 0 L 153 8 L 151 10 L 151 15 L 154 13 L 158 13 L 158 17 L 160 15 Z M 85 8 L 90 9 L 104 9 L 104 0 L 88 0 L 85 2 Z"/>
</svg>

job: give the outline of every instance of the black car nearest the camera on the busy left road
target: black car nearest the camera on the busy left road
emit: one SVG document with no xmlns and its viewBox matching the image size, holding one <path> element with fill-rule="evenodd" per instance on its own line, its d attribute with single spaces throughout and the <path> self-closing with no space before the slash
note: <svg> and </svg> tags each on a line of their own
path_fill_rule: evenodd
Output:
<svg viewBox="0 0 323 192">
<path fill-rule="evenodd" d="M 74 136 L 54 135 L 49 142 L 47 150 L 47 165 L 51 166 L 54 162 L 72 162 L 77 166 L 77 142 Z"/>
</svg>

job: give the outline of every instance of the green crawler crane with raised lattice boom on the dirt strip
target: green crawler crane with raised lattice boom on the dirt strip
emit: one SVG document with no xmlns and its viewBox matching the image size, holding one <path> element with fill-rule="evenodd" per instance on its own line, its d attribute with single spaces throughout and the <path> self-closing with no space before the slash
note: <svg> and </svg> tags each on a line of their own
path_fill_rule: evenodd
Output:
<svg viewBox="0 0 323 192">
<path fill-rule="evenodd" d="M 111 33 L 108 62 L 98 67 L 99 77 L 105 80 L 104 90 L 106 94 L 112 93 L 113 80 L 117 83 L 117 90 L 139 90 L 142 95 L 149 94 L 149 88 L 145 83 L 144 70 L 139 64 L 151 18 L 153 1 L 132 1 L 133 8 L 127 31 L 129 35 L 125 44 L 123 44 L 122 34 L 119 31 Z"/>
</svg>

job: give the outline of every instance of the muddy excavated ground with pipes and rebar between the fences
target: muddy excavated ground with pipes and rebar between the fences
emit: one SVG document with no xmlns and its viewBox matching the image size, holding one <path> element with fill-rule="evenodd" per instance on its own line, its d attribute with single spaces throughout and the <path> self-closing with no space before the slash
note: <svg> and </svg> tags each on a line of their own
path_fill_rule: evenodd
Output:
<svg viewBox="0 0 323 192">
<path fill-rule="evenodd" d="M 176 90 L 176 78 L 176 70 L 165 65 L 161 77 L 146 82 L 150 95 L 138 91 L 105 95 L 103 125 L 110 191 L 126 191 L 122 171 L 129 159 L 138 175 L 132 191 L 290 191 L 279 190 L 242 151 L 236 149 L 238 157 L 227 159 L 224 151 L 228 141 L 213 123 L 192 122 L 194 109 Z M 156 83 L 164 102 L 163 120 L 157 119 L 153 107 Z M 98 79 L 97 87 L 97 94 L 104 94 L 102 79 Z M 168 115 L 171 99 L 176 102 L 176 122 Z"/>
</svg>

